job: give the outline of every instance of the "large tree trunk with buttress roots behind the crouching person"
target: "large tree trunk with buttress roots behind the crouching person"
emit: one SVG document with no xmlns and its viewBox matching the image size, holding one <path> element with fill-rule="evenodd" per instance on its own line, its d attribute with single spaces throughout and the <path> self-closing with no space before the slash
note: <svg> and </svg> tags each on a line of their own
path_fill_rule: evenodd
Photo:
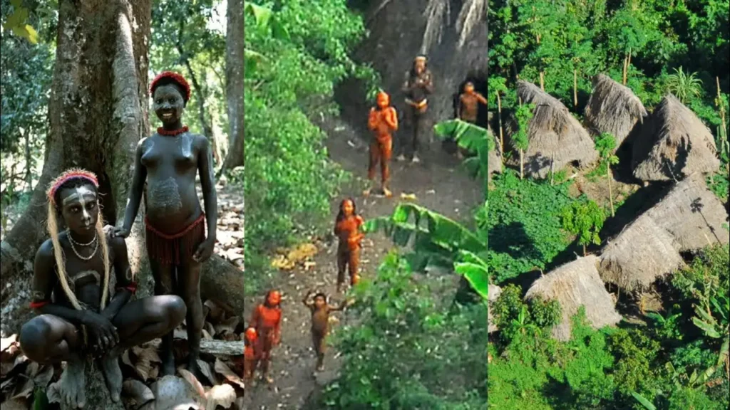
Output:
<svg viewBox="0 0 730 410">
<path fill-rule="evenodd" d="M 2 330 L 17 333 L 31 315 L 28 302 L 34 254 L 47 238 L 45 190 L 61 171 L 80 167 L 99 177 L 104 220 L 119 225 L 131 185 L 134 152 L 147 122 L 147 45 L 150 0 L 61 0 L 58 47 L 49 102 L 50 132 L 43 172 L 31 204 L 0 244 Z M 144 206 L 127 239 L 129 262 L 139 272 L 139 295 L 150 295 L 152 280 L 145 249 Z M 235 278 L 240 280 L 237 282 Z M 215 289 L 225 283 L 226 289 Z M 11 284 L 6 286 L 5 284 Z M 201 289 L 229 298 L 243 310 L 243 275 L 215 256 L 204 264 Z M 238 295 L 236 297 L 236 295 Z"/>
</svg>

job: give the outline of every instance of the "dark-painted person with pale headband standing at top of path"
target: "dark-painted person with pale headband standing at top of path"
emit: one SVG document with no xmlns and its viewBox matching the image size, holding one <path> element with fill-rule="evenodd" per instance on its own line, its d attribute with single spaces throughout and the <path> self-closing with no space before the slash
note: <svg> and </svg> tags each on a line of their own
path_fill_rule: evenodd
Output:
<svg viewBox="0 0 730 410">
<path fill-rule="evenodd" d="M 426 65 L 426 56 L 418 55 L 413 60 L 413 65 L 405 74 L 403 92 L 406 99 L 406 117 L 410 123 L 411 136 L 404 147 L 401 147 L 401 155 L 398 160 L 405 160 L 406 153 L 410 152 L 411 160 L 414 163 L 420 162 L 418 149 L 423 142 L 423 137 L 429 134 L 429 100 L 428 96 L 434 92 L 434 80 L 431 71 Z"/>
</svg>

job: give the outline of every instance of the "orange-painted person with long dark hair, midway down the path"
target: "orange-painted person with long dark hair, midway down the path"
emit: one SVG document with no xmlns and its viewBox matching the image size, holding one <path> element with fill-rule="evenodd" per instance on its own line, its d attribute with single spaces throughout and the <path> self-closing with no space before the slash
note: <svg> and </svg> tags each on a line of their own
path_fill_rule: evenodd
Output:
<svg viewBox="0 0 730 410">
<path fill-rule="evenodd" d="M 360 263 L 361 241 L 365 236 L 360 232 L 363 225 L 363 218 L 356 214 L 356 206 L 353 198 L 347 198 L 339 204 L 337 220 L 334 221 L 334 234 L 339 239 L 337 247 L 337 292 L 342 292 L 345 285 L 345 269 L 350 272 L 350 285 L 357 285 L 360 276 L 358 265 Z"/>
</svg>

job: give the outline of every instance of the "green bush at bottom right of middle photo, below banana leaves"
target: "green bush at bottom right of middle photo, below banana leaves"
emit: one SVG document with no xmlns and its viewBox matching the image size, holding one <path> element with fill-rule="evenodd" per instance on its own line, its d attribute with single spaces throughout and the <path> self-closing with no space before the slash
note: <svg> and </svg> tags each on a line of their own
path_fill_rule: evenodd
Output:
<svg viewBox="0 0 730 410">
<path fill-rule="evenodd" d="M 388 255 L 355 289 L 358 324 L 337 333 L 345 362 L 317 408 L 484 409 L 486 306 L 452 308 L 443 286 L 416 283 L 407 262 Z"/>
</svg>

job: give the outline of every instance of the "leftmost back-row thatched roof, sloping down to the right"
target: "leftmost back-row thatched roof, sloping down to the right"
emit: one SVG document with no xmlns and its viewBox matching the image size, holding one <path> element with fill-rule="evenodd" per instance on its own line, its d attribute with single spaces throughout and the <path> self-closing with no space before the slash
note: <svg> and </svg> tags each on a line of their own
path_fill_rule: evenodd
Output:
<svg viewBox="0 0 730 410">
<path fill-rule="evenodd" d="M 523 103 L 535 104 L 534 116 L 528 125 L 526 174 L 545 178 L 551 166 L 557 172 L 570 163 L 585 167 L 598 159 L 599 154 L 588 131 L 557 98 L 523 80 L 518 81 L 517 92 Z M 508 142 L 517 152 L 514 143 Z M 518 155 L 512 157 L 519 160 Z"/>
</svg>

